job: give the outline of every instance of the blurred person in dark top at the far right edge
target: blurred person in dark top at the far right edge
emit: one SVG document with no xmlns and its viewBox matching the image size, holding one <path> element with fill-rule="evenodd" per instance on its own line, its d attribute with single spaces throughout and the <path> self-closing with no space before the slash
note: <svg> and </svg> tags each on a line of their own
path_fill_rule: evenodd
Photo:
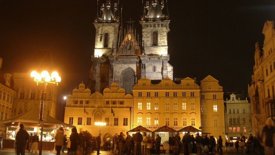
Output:
<svg viewBox="0 0 275 155">
<path fill-rule="evenodd" d="M 273 120 L 267 119 L 266 125 L 262 128 L 262 143 L 265 147 L 266 155 L 275 154 L 275 127 L 273 126 Z"/>
</svg>

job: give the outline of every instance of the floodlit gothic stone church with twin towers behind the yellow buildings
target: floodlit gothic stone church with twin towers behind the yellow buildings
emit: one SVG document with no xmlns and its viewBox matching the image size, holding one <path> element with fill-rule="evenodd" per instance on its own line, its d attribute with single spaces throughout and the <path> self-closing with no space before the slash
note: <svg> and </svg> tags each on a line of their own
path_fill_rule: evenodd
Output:
<svg viewBox="0 0 275 155">
<path fill-rule="evenodd" d="M 170 31 L 167 0 L 142 3 L 139 21 L 142 39 L 136 36 L 131 25 L 123 31 L 120 15 L 117 0 L 103 0 L 100 7 L 97 4 L 95 49 L 88 83 L 91 91 L 103 92 L 115 82 L 132 94 L 133 85 L 143 77 L 173 79 L 167 52 L 167 33 Z"/>
</svg>

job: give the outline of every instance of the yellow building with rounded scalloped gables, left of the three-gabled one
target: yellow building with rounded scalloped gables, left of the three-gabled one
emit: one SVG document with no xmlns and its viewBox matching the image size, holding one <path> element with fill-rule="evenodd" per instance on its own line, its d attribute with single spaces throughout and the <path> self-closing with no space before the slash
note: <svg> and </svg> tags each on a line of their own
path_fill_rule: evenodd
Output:
<svg viewBox="0 0 275 155">
<path fill-rule="evenodd" d="M 132 104 L 132 95 L 126 94 L 117 83 L 105 88 L 103 94 L 98 91 L 91 94 L 91 90 L 80 83 L 67 95 L 64 122 L 73 124 L 78 131 L 87 130 L 93 136 L 101 131 L 104 140 L 119 132 L 126 135 L 130 130 Z M 99 127 L 95 122 L 105 122 L 106 126 Z"/>
</svg>

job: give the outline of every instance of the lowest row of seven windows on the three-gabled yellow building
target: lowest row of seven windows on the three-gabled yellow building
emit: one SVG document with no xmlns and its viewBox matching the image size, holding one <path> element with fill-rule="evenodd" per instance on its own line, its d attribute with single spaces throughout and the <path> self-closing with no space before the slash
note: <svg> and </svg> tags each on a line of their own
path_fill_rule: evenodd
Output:
<svg viewBox="0 0 275 155">
<path fill-rule="evenodd" d="M 196 126 L 196 117 L 191 117 L 190 119 L 192 126 Z M 142 125 L 142 117 L 138 117 L 138 126 Z M 146 124 L 147 126 L 152 125 L 151 123 L 151 117 L 146 117 Z M 158 117 L 154 117 L 153 120 L 153 125 L 155 126 L 159 126 L 159 118 Z M 170 126 L 170 117 L 165 117 L 165 125 Z M 180 126 L 180 124 L 178 124 L 178 117 L 174 117 L 173 118 L 173 126 Z M 187 117 L 183 117 L 182 118 L 182 126 L 188 126 L 187 125 Z"/>
</svg>

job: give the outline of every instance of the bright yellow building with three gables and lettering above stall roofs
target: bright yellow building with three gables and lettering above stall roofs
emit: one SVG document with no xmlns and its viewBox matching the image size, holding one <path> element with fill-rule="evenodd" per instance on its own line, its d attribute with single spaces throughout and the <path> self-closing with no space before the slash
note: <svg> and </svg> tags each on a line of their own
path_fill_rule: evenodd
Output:
<svg viewBox="0 0 275 155">
<path fill-rule="evenodd" d="M 151 131 L 167 125 L 175 130 L 192 125 L 199 129 L 200 86 L 189 77 L 177 84 L 168 77 L 158 81 L 147 78 L 133 86 L 133 127 Z"/>
</svg>

